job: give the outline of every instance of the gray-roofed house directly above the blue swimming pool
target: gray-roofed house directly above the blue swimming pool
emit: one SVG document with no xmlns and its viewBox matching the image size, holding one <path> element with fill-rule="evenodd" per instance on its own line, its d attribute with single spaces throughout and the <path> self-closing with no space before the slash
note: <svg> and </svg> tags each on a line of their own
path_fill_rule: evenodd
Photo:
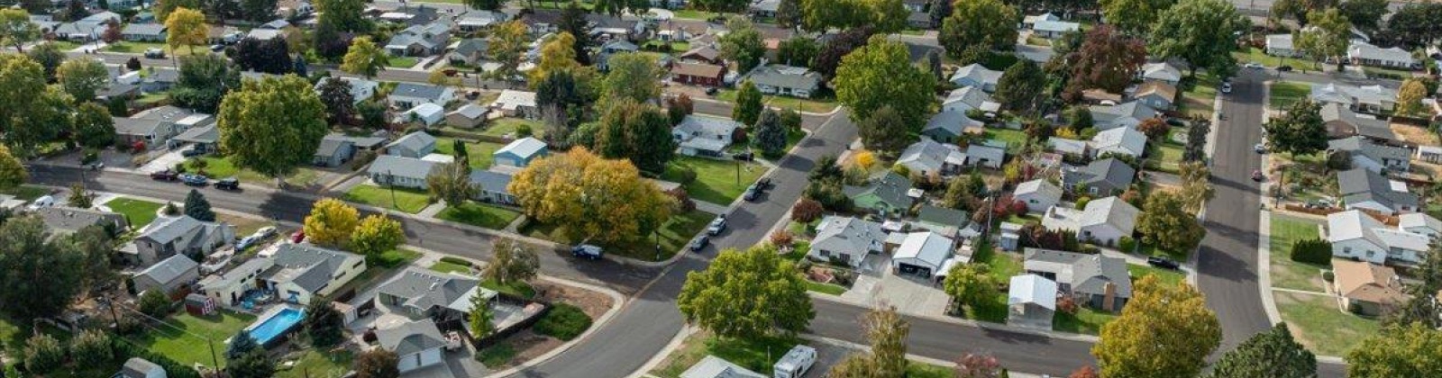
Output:
<svg viewBox="0 0 1442 378">
<path fill-rule="evenodd" d="M 270 257 L 274 265 L 261 273 L 265 289 L 281 300 L 306 304 L 329 296 L 365 271 L 365 257 L 310 244 L 281 242 Z"/>
</svg>

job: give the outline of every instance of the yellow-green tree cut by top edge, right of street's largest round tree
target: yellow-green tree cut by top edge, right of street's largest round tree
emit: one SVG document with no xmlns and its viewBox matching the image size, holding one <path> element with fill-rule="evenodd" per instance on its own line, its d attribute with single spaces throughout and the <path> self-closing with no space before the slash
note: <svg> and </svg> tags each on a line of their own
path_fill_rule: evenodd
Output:
<svg viewBox="0 0 1442 378">
<path fill-rule="evenodd" d="M 942 20 L 936 40 L 952 58 L 970 46 L 1011 50 L 1017 45 L 1017 9 L 1001 0 L 956 1 L 952 16 Z"/>
</svg>

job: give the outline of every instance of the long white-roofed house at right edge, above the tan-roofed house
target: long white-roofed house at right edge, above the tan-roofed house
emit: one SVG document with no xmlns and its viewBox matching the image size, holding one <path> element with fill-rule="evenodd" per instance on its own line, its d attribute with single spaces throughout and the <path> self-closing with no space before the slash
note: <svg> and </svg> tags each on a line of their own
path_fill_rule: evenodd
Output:
<svg viewBox="0 0 1442 378">
<path fill-rule="evenodd" d="M 1423 229 L 1389 227 L 1366 212 L 1344 211 L 1327 215 L 1325 237 L 1332 244 L 1334 257 L 1373 264 L 1415 265 L 1426 258 L 1430 235 L 1442 229 L 1417 231 Z"/>
</svg>

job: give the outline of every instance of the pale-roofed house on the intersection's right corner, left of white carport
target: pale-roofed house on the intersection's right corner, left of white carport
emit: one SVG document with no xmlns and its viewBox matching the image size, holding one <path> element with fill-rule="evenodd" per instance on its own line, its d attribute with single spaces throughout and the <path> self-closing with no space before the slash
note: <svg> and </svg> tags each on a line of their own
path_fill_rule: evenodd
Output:
<svg viewBox="0 0 1442 378">
<path fill-rule="evenodd" d="M 881 224 L 854 218 L 828 215 L 816 225 L 816 237 L 806 257 L 820 261 L 839 261 L 859 267 L 867 254 L 885 248 L 887 234 Z"/>
</svg>

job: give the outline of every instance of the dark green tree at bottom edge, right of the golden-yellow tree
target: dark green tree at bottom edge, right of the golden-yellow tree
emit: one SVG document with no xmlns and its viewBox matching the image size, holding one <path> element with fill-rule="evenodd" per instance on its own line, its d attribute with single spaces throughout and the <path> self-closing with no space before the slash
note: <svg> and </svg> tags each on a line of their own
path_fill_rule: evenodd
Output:
<svg viewBox="0 0 1442 378">
<path fill-rule="evenodd" d="M 1252 335 L 1211 365 L 1210 378 L 1308 378 L 1317 377 L 1317 356 L 1292 339 L 1286 323 Z"/>
</svg>

